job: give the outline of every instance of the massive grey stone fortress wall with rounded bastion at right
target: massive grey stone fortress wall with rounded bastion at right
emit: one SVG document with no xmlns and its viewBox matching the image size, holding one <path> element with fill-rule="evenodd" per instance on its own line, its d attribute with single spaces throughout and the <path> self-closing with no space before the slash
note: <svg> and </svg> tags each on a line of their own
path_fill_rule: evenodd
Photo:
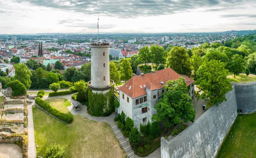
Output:
<svg viewBox="0 0 256 158">
<path fill-rule="evenodd" d="M 168 141 L 161 138 L 162 158 L 215 157 L 229 128 L 236 119 L 237 109 L 242 113 L 256 111 L 256 81 L 232 83 L 227 101 L 209 108 L 192 125 Z"/>
</svg>

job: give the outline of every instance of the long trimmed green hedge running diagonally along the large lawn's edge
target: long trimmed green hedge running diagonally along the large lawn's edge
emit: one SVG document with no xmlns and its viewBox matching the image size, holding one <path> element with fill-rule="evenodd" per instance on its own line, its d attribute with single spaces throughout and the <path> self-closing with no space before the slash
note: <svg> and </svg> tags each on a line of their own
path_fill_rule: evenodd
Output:
<svg viewBox="0 0 256 158">
<path fill-rule="evenodd" d="M 67 123 L 71 123 L 73 121 L 73 117 L 60 112 L 59 110 L 52 108 L 52 106 L 48 103 L 45 103 L 41 98 L 37 97 L 35 102 L 37 103 L 38 106 L 52 114 L 53 116 L 57 117 L 58 119 L 61 119 L 62 121 L 65 121 Z"/>
</svg>

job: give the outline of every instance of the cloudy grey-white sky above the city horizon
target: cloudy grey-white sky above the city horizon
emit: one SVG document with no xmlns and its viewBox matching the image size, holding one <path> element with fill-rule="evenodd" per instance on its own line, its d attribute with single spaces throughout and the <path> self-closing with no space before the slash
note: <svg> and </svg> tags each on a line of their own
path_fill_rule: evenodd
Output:
<svg viewBox="0 0 256 158">
<path fill-rule="evenodd" d="M 256 29 L 255 0 L 0 0 L 0 33 Z"/>
</svg>

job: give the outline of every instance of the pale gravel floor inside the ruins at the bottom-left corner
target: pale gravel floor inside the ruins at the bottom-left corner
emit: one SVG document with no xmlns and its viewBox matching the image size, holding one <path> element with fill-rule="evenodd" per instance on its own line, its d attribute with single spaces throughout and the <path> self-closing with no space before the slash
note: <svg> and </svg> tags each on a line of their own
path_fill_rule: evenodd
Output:
<svg viewBox="0 0 256 158">
<path fill-rule="evenodd" d="M 22 150 L 12 143 L 0 143 L 1 158 L 22 158 Z"/>
</svg>

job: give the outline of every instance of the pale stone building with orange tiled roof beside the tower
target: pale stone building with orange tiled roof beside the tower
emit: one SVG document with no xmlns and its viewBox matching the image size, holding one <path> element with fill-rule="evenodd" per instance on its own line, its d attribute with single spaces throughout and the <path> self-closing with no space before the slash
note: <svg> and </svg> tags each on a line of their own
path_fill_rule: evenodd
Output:
<svg viewBox="0 0 256 158">
<path fill-rule="evenodd" d="M 168 80 L 175 80 L 184 77 L 186 86 L 190 86 L 189 95 L 194 97 L 194 80 L 180 75 L 171 68 L 166 68 L 151 73 L 132 77 L 123 86 L 119 87 L 118 113 L 123 111 L 126 118 L 129 116 L 134 121 L 135 127 L 147 124 L 151 121 L 153 114 L 156 114 L 154 106 L 158 103 L 162 94 L 166 92 L 163 85 Z"/>
</svg>

